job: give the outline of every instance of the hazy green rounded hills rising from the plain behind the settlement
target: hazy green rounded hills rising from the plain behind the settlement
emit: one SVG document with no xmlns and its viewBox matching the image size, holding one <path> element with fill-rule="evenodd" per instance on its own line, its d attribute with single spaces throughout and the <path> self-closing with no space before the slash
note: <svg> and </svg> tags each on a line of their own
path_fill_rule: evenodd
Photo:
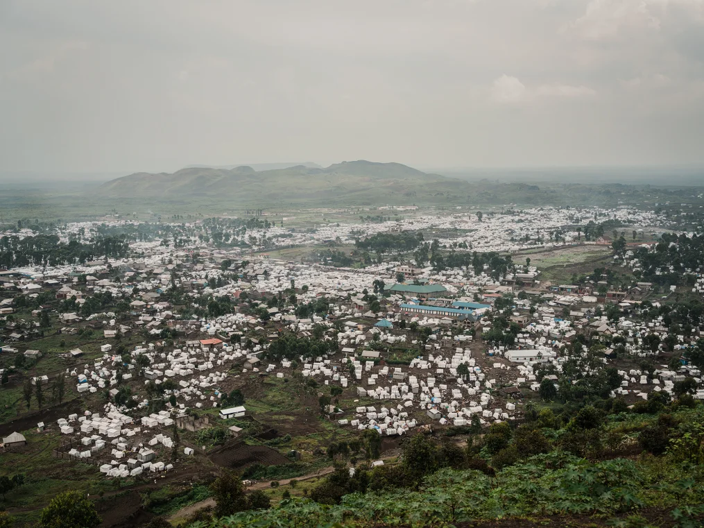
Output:
<svg viewBox="0 0 704 528">
<path fill-rule="evenodd" d="M 427 174 L 401 163 L 350 161 L 312 168 L 256 171 L 243 166 L 184 168 L 172 174 L 138 172 L 103 184 L 96 194 L 104 198 L 151 198 L 170 201 L 189 197 L 212 198 L 230 203 L 350 203 L 379 204 L 428 201 L 448 194 L 466 194 L 470 184 L 436 174 Z M 432 201 L 432 200 L 431 200 Z"/>
</svg>

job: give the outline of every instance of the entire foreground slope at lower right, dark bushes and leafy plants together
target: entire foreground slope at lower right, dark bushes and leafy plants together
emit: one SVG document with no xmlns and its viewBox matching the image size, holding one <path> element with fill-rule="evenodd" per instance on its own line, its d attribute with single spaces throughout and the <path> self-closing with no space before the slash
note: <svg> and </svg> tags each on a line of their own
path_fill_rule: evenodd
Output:
<svg viewBox="0 0 704 528">
<path fill-rule="evenodd" d="M 245 511 L 218 526 L 420 526 L 553 515 L 619 525 L 653 508 L 678 526 L 697 526 L 704 514 L 703 417 L 703 406 L 673 404 L 659 415 L 639 415 L 598 403 L 562 415 L 529 412 L 515 429 L 492 425 L 465 450 L 417 434 L 403 445 L 400 463 L 371 471 L 358 466 L 353 475 L 336 463 L 310 498 L 287 498 L 266 513 Z M 619 455 L 634 444 L 643 451 L 639 458 Z"/>
</svg>

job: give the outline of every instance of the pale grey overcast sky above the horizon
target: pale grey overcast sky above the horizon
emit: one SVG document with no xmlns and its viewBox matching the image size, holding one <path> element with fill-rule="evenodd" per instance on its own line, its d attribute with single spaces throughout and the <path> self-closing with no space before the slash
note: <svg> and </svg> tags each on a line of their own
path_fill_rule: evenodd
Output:
<svg viewBox="0 0 704 528">
<path fill-rule="evenodd" d="M 0 171 L 704 162 L 704 0 L 3 0 Z"/>
</svg>

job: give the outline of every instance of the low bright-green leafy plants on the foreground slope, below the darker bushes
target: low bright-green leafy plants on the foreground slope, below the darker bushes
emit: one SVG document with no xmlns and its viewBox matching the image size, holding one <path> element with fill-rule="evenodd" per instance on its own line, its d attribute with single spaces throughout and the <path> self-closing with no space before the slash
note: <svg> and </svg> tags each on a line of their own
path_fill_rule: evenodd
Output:
<svg viewBox="0 0 704 528">
<path fill-rule="evenodd" d="M 547 515 L 631 515 L 641 508 L 670 509 L 699 516 L 704 470 L 689 462 L 646 455 L 591 463 L 561 451 L 536 455 L 497 472 L 444 469 L 426 477 L 420 489 L 348 494 L 339 505 L 297 499 L 278 508 L 242 512 L 191 528 L 314 528 L 422 526 Z M 689 514 L 688 514 L 689 515 Z M 696 525 L 696 524 L 695 524 Z"/>
</svg>

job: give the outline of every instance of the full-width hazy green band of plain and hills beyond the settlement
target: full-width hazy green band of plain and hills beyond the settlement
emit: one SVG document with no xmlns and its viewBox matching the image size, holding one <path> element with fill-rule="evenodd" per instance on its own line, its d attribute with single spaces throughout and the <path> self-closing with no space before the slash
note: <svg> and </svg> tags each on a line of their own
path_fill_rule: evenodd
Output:
<svg viewBox="0 0 704 528">
<path fill-rule="evenodd" d="M 622 203 L 655 206 L 655 203 L 700 203 L 696 187 L 652 185 L 573 184 L 563 182 L 498 183 L 428 175 L 398 163 L 356 161 L 325 169 L 294 167 L 255 172 L 188 168 L 173 175 L 135 174 L 95 188 L 85 184 L 46 184 L 42 189 L 23 183 L 0 189 L 4 219 L 88 220 L 106 213 L 127 218 L 191 220 L 206 210 L 237 209 L 249 215 L 260 208 L 301 206 L 455 206 L 482 204 L 482 208 L 515 203 L 518 206 L 615 207 Z M 86 187 L 89 190 L 86 191 Z M 119 200 L 116 200 L 118 199 Z M 119 207 L 120 210 L 115 210 Z M 665 208 L 673 223 L 701 225 L 696 210 Z M 484 209 L 485 216 L 488 215 Z M 607 230 L 608 231 L 608 230 Z"/>
</svg>

